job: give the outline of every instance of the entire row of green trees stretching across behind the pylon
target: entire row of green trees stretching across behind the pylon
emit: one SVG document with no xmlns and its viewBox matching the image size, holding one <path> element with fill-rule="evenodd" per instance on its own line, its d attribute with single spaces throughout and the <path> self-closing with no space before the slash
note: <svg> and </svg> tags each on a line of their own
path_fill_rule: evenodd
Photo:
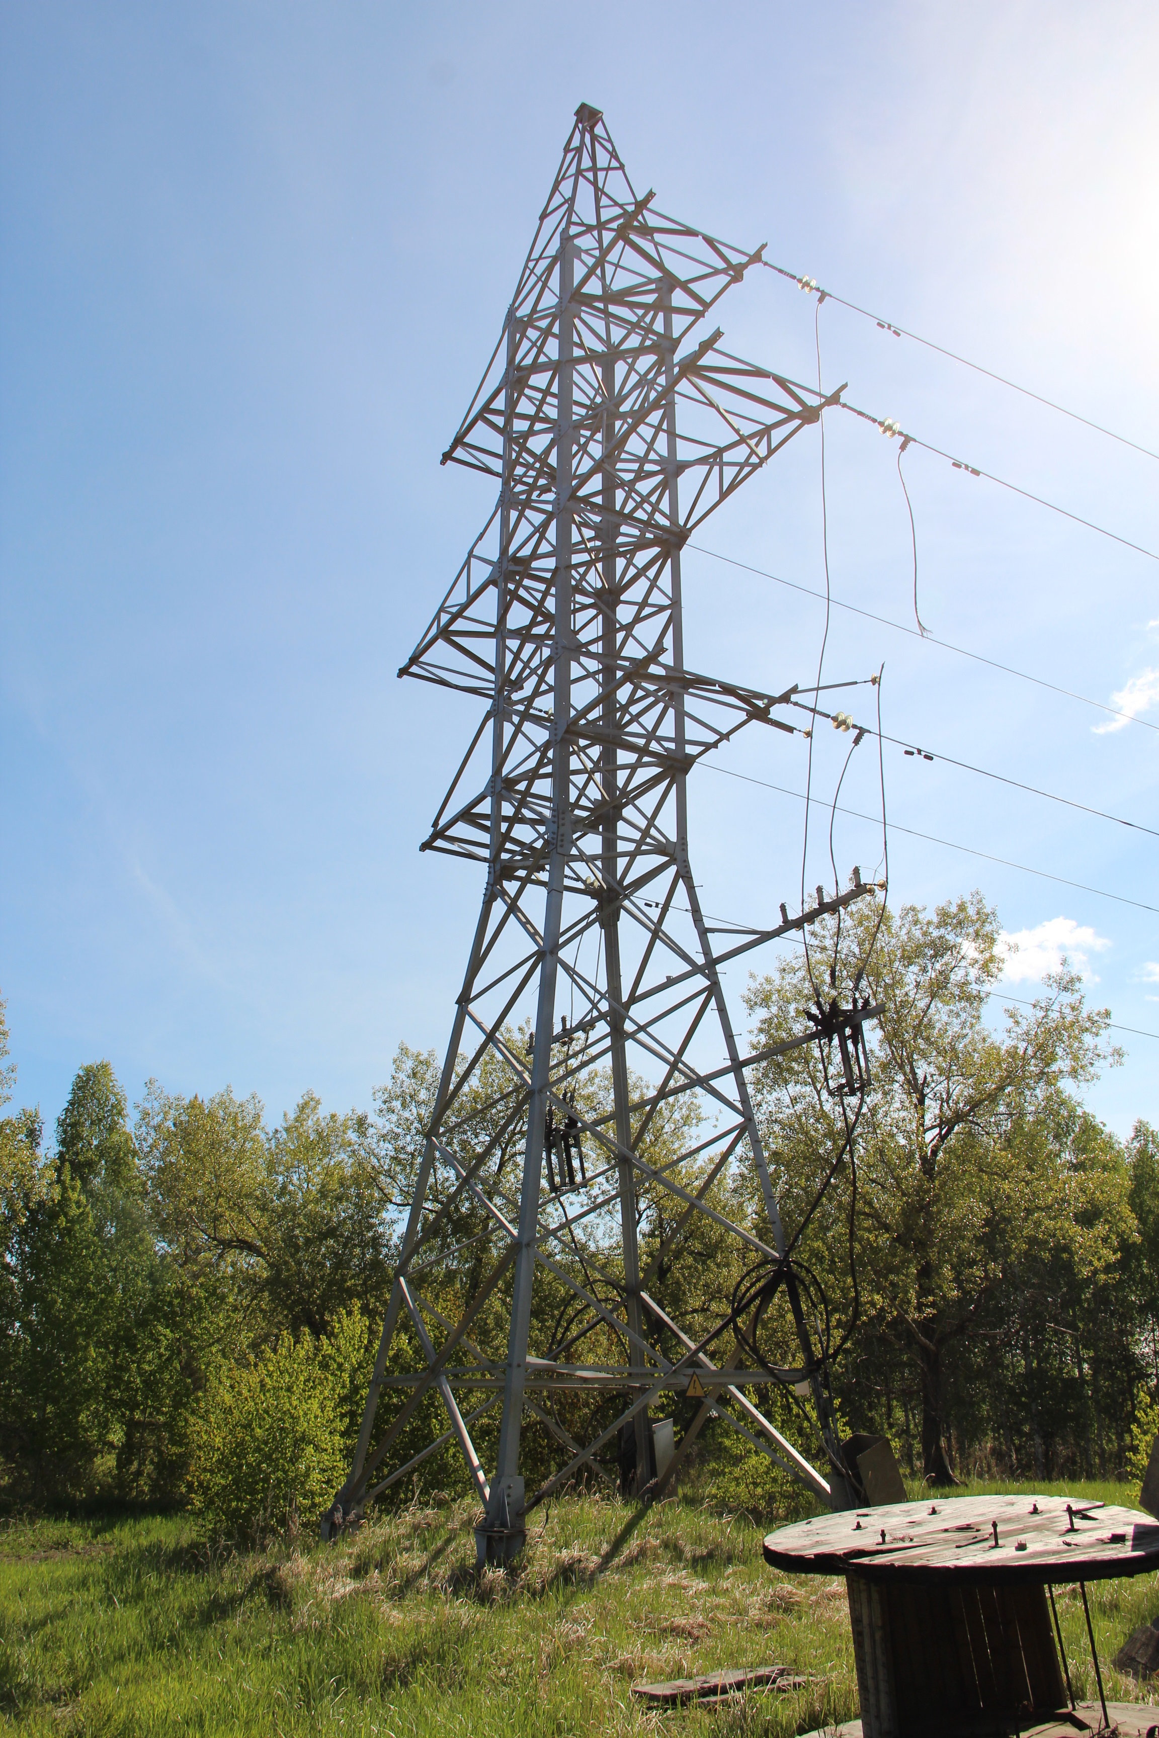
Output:
<svg viewBox="0 0 1159 1738">
<path fill-rule="evenodd" d="M 1076 972 L 1063 963 L 1032 1006 L 1003 1006 L 999 935 L 977 893 L 935 911 L 865 900 L 820 919 L 747 998 L 758 1050 L 798 1034 L 834 996 L 879 1010 L 864 1098 L 834 1090 L 836 1057 L 827 1069 L 818 1045 L 768 1057 L 752 1088 L 841 1418 L 890 1434 L 933 1481 L 959 1469 L 1114 1472 L 1138 1453 L 1131 1432 L 1159 1401 L 1159 1137 L 1140 1121 L 1119 1140 L 1083 1105 L 1117 1053 Z M 151 1081 L 130 1112 L 109 1062 L 90 1062 L 45 1149 L 38 1112 L 9 1109 L 7 1055 L 0 1003 L 2 1489 L 33 1502 L 196 1500 L 236 1521 L 268 1469 L 268 1519 L 297 1516 L 356 1430 L 438 1058 L 401 1045 L 368 1111 L 323 1111 L 308 1091 L 276 1123 L 228 1086 L 182 1097 Z M 580 1074 L 577 1091 L 587 1121 L 608 1114 L 599 1069 Z M 499 1057 L 462 1076 L 454 1118 L 492 1199 L 514 1203 L 525 1130 Z M 711 1133 L 711 1107 L 672 1098 L 632 1140 L 766 1241 L 742 1147 L 723 1163 L 676 1164 L 702 1119 Z M 441 1260 L 419 1281 L 427 1319 L 478 1302 L 473 1340 L 502 1361 L 509 1277 L 480 1293 L 502 1231 L 450 1171 L 429 1199 L 424 1258 Z M 646 1180 L 638 1220 L 660 1307 L 690 1328 L 726 1316 L 744 1279 L 735 1239 L 707 1217 L 686 1220 Z M 533 1297 L 537 1356 L 620 1356 L 617 1231 L 596 1211 L 554 1251 L 599 1310 L 577 1310 L 547 1270 Z M 796 1361 L 787 1314 L 770 1310 L 761 1333 L 766 1361 Z M 419 1356 L 412 1340 L 403 1323 L 391 1368 Z M 577 1396 L 540 1408 L 532 1462 L 546 1467 L 606 1404 Z M 798 1439 L 808 1434 L 810 1408 L 791 1390 L 761 1404 Z M 674 1411 L 679 1427 L 679 1401 Z M 495 1422 L 473 1427 L 485 1458 Z M 264 1458 L 250 1451 L 262 1430 L 280 1436 Z M 445 1430 L 431 1394 L 400 1436 L 400 1458 Z M 712 1429 L 704 1453 L 725 1470 L 735 1460 Z M 295 1467 L 309 1470 L 306 1484 Z M 454 1443 L 424 1477 L 462 1488 Z"/>
</svg>

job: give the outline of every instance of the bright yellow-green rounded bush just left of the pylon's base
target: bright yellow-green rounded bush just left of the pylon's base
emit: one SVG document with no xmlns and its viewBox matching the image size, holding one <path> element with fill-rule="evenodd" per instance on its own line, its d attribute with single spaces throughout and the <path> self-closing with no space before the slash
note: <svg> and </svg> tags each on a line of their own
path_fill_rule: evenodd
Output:
<svg viewBox="0 0 1159 1738">
<path fill-rule="evenodd" d="M 193 1425 L 193 1509 L 250 1540 L 316 1521 L 346 1476 L 365 1357 L 367 1321 L 351 1310 L 323 1340 L 283 1333 L 250 1364 L 222 1364 Z"/>
</svg>

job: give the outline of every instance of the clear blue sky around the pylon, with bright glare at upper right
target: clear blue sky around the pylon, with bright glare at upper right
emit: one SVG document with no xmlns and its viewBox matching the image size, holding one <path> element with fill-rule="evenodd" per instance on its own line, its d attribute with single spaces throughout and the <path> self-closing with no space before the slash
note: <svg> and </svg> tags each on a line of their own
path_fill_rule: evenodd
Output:
<svg viewBox="0 0 1159 1738">
<path fill-rule="evenodd" d="M 1154 7 L 7 0 L 0 31 L 0 989 L 49 1121 L 97 1057 L 130 1097 L 229 1081 L 280 1114 L 367 1105 L 400 1039 L 443 1043 L 480 883 L 417 843 L 473 718 L 394 671 L 488 506 L 438 455 L 579 101 L 664 210 L 1159 450 Z M 813 379 L 813 306 L 758 273 L 719 322 Z M 853 403 L 1159 551 L 1156 461 L 832 302 L 820 342 Z M 834 594 L 909 622 L 895 462 L 829 421 Z M 1159 563 L 905 466 L 935 634 L 1159 697 Z M 702 541 L 822 584 L 817 441 Z M 695 667 L 811 680 L 813 600 L 711 556 L 685 591 Z M 1147 725 L 838 612 L 829 673 L 883 659 L 891 733 L 1159 827 Z M 768 735 L 723 765 L 803 786 Z M 1147 833 L 900 749 L 886 779 L 900 826 L 1159 905 Z M 693 826 L 709 911 L 792 900 L 798 801 L 704 772 Z M 838 852 L 872 864 L 874 829 Z M 891 838 L 895 899 L 973 886 L 1023 972 L 1077 945 L 1159 1031 L 1154 912 Z M 1119 1036 L 1089 1102 L 1126 1133 L 1159 1121 L 1159 1041 Z"/>
</svg>

